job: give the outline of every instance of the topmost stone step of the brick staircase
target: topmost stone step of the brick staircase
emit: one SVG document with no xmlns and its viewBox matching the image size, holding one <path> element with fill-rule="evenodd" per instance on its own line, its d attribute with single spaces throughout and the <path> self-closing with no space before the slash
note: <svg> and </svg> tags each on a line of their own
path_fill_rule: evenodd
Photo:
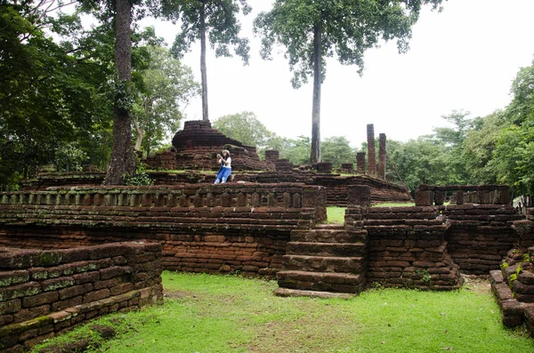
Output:
<svg viewBox="0 0 534 353">
<path fill-rule="evenodd" d="M 367 239 L 366 230 L 341 229 L 295 229 L 291 241 L 306 243 L 356 243 Z"/>
</svg>

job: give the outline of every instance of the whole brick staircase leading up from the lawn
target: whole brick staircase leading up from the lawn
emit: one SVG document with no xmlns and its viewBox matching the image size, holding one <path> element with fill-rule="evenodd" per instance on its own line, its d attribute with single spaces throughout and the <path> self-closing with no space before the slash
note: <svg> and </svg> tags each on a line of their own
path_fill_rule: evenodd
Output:
<svg viewBox="0 0 534 353">
<path fill-rule="evenodd" d="M 360 293 L 366 279 L 367 231 L 361 229 L 360 221 L 353 221 L 354 217 L 360 219 L 352 214 L 345 216 L 349 219 L 345 225 L 292 230 L 275 293 L 318 297 Z"/>
</svg>

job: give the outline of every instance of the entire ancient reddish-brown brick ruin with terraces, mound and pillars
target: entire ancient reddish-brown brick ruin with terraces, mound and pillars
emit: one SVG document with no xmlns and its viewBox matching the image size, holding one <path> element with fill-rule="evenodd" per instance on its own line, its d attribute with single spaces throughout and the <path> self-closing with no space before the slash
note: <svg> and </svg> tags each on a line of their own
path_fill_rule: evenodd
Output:
<svg viewBox="0 0 534 353">
<path fill-rule="evenodd" d="M 177 151 L 154 163 L 213 169 L 213 153 L 224 145 L 245 171 L 232 182 L 162 170 L 150 173 L 155 186 L 102 187 L 103 174 L 88 171 L 43 174 L 23 191 L 0 193 L 3 349 L 158 301 L 163 269 L 277 278 L 279 295 L 332 295 L 372 284 L 454 290 L 461 274 L 486 275 L 505 259 L 511 266 L 501 277 L 491 272 L 503 320 L 534 325 L 531 258 L 521 258 L 518 273 L 511 253 L 519 246 L 521 256 L 531 254 L 534 222 L 509 205 L 507 187 L 421 185 L 416 206 L 370 207 L 409 195 L 371 175 L 331 173 L 328 163 L 296 169 L 278 151 L 259 161 L 254 149 L 223 135 L 201 146 L 213 130 L 188 124 Z M 365 172 L 364 153 L 356 165 Z M 246 172 L 256 167 L 265 169 Z M 344 224 L 321 223 L 327 205 L 347 207 Z"/>
</svg>

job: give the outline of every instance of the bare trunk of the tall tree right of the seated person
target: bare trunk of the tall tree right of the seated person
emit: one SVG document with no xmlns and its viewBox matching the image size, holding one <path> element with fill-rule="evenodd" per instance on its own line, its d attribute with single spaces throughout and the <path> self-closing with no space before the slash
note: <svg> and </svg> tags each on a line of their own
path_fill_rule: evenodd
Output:
<svg viewBox="0 0 534 353">
<path fill-rule="evenodd" d="M 322 52 L 320 48 L 321 24 L 313 28 L 313 104 L 312 104 L 312 151 L 310 163 L 320 162 L 320 80 Z"/>
</svg>

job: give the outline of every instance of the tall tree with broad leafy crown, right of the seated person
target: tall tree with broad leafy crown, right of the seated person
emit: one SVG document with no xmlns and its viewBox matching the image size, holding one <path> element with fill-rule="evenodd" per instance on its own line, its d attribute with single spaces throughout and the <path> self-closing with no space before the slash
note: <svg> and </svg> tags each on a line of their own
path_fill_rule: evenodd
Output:
<svg viewBox="0 0 534 353">
<path fill-rule="evenodd" d="M 397 38 L 399 52 L 408 50 L 411 26 L 422 4 L 442 0 L 354 1 L 276 0 L 270 12 L 255 19 L 255 34 L 263 36 L 261 55 L 271 59 L 274 44 L 287 48 L 294 88 L 313 76 L 312 148 L 310 162 L 320 162 L 320 85 L 326 77 L 324 57 L 335 54 L 341 64 L 357 65 L 361 74 L 363 55 L 369 48 Z"/>
</svg>

